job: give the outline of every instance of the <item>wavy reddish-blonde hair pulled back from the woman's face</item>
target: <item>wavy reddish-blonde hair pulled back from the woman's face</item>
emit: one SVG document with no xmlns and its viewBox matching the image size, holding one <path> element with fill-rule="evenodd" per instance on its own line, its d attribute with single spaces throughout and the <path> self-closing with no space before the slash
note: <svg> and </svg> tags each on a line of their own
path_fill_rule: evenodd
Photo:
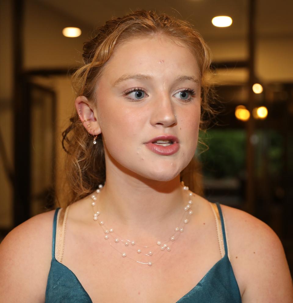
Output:
<svg viewBox="0 0 293 303">
<path fill-rule="evenodd" d="M 115 46 L 133 37 L 163 34 L 177 39 L 194 54 L 201 75 L 201 121 L 200 129 L 205 129 L 213 113 L 208 102 L 209 88 L 206 75 L 211 64 L 211 53 L 201 35 L 191 24 L 166 14 L 139 10 L 122 18 L 112 18 L 95 31 L 90 41 L 84 43 L 83 65 L 72 76 L 72 86 L 76 96 L 85 96 L 95 103 L 96 83 L 105 63 L 110 59 Z M 63 132 L 62 145 L 67 152 L 66 172 L 70 195 L 65 204 L 71 204 L 93 192 L 106 180 L 105 155 L 102 135 L 97 144 L 85 130 L 78 114 L 70 119 L 70 126 Z M 64 204 L 63 203 L 63 204 Z"/>
</svg>

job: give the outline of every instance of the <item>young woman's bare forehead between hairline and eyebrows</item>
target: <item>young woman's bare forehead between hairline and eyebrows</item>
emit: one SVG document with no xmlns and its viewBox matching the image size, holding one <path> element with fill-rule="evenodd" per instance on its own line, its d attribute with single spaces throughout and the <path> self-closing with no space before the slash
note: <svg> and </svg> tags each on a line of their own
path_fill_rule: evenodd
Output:
<svg viewBox="0 0 293 303">
<path fill-rule="evenodd" d="M 170 79 L 176 74 L 192 74 L 199 78 L 194 54 L 179 40 L 165 35 L 135 37 L 120 42 L 105 64 L 102 77 L 117 78 L 121 74 L 137 72 Z"/>
</svg>

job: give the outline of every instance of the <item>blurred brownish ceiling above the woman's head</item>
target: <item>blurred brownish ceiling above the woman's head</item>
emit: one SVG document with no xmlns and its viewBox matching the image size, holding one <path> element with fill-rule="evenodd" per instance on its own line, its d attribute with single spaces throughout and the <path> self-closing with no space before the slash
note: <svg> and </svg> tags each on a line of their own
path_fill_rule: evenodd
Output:
<svg viewBox="0 0 293 303">
<path fill-rule="evenodd" d="M 245 37 L 248 28 L 248 0 L 36 0 L 58 10 L 89 29 L 102 25 L 112 16 L 123 16 L 136 9 L 155 9 L 158 13 L 175 15 L 189 20 L 205 39 Z M 292 0 L 255 0 L 257 35 L 293 37 Z M 228 15 L 233 24 L 216 28 L 211 20 Z M 73 26 L 73 25 L 69 25 Z"/>
</svg>

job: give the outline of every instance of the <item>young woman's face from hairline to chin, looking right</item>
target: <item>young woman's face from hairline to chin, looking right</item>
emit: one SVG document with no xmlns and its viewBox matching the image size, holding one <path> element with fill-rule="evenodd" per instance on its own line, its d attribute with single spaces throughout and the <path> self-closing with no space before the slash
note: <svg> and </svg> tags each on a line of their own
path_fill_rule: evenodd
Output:
<svg viewBox="0 0 293 303">
<path fill-rule="evenodd" d="M 157 181 L 178 176 L 197 146 L 200 80 L 196 59 L 178 41 L 155 35 L 119 44 L 96 87 L 107 171 L 124 167 Z M 160 136 L 173 137 L 154 143 Z"/>
</svg>

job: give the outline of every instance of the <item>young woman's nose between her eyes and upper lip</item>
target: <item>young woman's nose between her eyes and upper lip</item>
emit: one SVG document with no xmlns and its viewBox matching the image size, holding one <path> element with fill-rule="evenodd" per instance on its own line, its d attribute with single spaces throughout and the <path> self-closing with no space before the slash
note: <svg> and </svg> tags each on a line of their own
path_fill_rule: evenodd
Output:
<svg viewBox="0 0 293 303">
<path fill-rule="evenodd" d="M 172 103 L 171 97 L 167 94 L 164 96 L 160 94 L 156 100 L 153 100 L 152 107 L 152 115 L 150 118 L 151 125 L 170 127 L 177 124 L 174 104 Z"/>
</svg>

